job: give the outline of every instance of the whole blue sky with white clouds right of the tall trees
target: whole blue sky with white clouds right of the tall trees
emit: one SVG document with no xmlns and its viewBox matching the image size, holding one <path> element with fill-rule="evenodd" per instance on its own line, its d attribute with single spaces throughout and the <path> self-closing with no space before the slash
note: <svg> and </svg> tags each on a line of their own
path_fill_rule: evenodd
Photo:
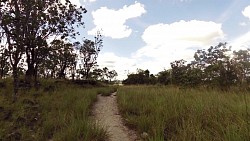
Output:
<svg viewBox="0 0 250 141">
<path fill-rule="evenodd" d="M 102 30 L 102 67 L 118 79 L 137 68 L 153 74 L 177 59 L 190 60 L 197 49 L 228 42 L 250 48 L 249 0 L 71 0 L 84 6 L 85 28 L 78 38 Z"/>
</svg>

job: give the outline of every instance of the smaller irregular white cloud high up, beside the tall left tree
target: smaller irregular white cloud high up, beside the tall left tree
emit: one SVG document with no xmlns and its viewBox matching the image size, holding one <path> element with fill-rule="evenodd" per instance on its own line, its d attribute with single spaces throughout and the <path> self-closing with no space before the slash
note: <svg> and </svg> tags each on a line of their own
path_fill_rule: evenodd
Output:
<svg viewBox="0 0 250 141">
<path fill-rule="evenodd" d="M 93 11 L 95 28 L 88 31 L 88 34 L 95 35 L 97 30 L 102 29 L 104 36 L 111 38 L 125 38 L 130 36 L 132 29 L 125 23 L 128 19 L 140 17 L 146 13 L 141 3 L 135 2 L 133 5 L 125 5 L 122 9 L 114 10 L 107 7 Z"/>
</svg>

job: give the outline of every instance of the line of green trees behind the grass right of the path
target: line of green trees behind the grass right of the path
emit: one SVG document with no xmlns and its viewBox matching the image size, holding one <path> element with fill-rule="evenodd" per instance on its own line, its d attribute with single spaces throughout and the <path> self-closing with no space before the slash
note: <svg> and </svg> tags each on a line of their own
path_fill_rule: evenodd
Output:
<svg viewBox="0 0 250 141">
<path fill-rule="evenodd" d="M 228 90 L 250 83 L 250 50 L 231 51 L 227 43 L 197 50 L 194 60 L 170 63 L 171 69 L 149 75 L 148 70 L 129 74 L 124 84 L 164 84 L 187 87 L 208 86 Z"/>
</svg>

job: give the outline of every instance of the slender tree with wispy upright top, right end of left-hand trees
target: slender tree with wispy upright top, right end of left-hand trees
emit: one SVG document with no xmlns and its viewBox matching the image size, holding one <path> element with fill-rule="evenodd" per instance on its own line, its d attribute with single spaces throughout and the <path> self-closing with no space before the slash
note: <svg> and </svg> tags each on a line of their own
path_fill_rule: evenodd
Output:
<svg viewBox="0 0 250 141">
<path fill-rule="evenodd" d="M 95 41 L 85 39 L 81 45 L 77 42 L 75 45 L 79 49 L 79 57 L 81 61 L 80 73 L 84 76 L 85 79 L 89 79 L 89 74 L 91 69 L 93 69 L 97 64 L 97 57 L 101 51 L 103 39 L 100 32 L 97 32 Z"/>
</svg>

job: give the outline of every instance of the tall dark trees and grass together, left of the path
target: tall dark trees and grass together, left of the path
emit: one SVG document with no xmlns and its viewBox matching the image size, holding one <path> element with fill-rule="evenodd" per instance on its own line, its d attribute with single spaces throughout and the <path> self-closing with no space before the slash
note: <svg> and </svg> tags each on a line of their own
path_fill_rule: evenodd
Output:
<svg viewBox="0 0 250 141">
<path fill-rule="evenodd" d="M 0 140 L 107 140 L 90 120 L 115 70 L 98 68 L 101 32 L 80 35 L 87 10 L 70 1 L 0 0 Z"/>
</svg>

